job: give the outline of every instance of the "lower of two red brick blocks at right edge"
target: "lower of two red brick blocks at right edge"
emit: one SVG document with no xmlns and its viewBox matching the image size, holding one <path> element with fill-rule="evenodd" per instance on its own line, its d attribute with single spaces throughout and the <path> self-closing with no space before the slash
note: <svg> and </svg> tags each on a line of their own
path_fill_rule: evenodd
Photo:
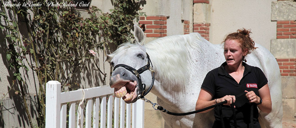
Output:
<svg viewBox="0 0 296 128">
<path fill-rule="evenodd" d="M 296 58 L 277 59 L 281 76 L 296 76 Z"/>
</svg>

